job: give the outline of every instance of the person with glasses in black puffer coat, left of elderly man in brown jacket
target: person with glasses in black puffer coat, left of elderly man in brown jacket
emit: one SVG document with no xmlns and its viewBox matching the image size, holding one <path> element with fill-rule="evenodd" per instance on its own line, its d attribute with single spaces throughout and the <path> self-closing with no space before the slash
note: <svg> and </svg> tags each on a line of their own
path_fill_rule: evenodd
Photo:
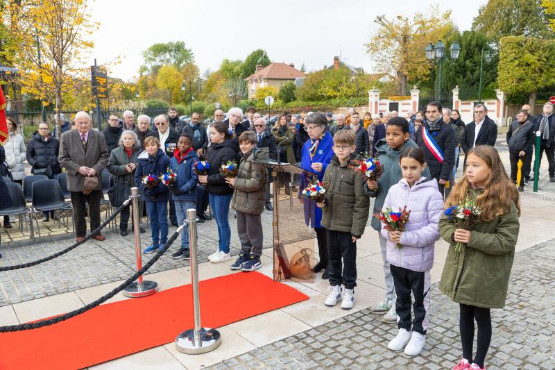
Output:
<svg viewBox="0 0 555 370">
<path fill-rule="evenodd" d="M 35 174 L 35 169 L 43 169 L 51 166 L 51 178 L 58 178 L 58 174 L 62 173 L 62 167 L 58 162 L 58 152 L 60 151 L 60 142 L 56 137 L 49 133 L 47 124 L 39 125 L 39 131 L 33 134 L 31 141 L 27 145 L 26 158 L 31 165 L 31 174 Z"/>
</svg>

